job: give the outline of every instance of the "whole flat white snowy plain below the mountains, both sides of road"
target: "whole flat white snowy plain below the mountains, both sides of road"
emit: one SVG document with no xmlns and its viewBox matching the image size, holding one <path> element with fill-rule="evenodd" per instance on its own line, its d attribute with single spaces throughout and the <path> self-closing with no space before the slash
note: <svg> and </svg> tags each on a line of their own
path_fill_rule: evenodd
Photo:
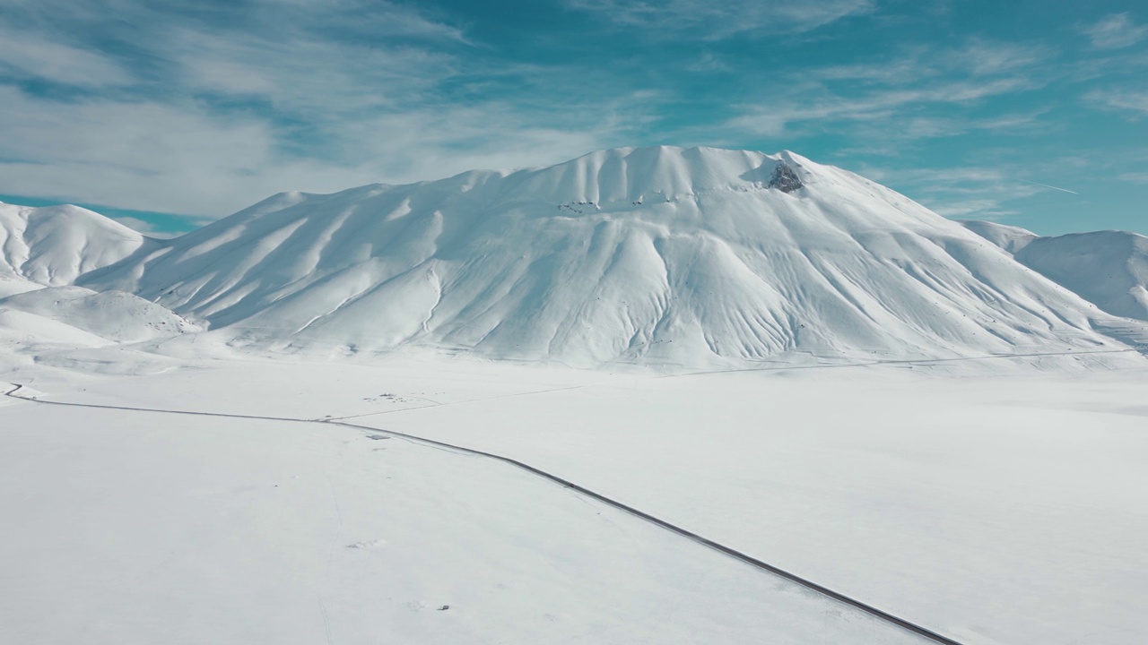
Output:
<svg viewBox="0 0 1148 645">
<path fill-rule="evenodd" d="M 104 348 L 2 380 L 351 417 L 544 468 L 961 643 L 1141 642 L 1148 371 L 974 363 L 673 376 Z M 0 426 L 5 642 L 924 642 L 505 464 L 369 429 L 13 397 Z"/>
</svg>

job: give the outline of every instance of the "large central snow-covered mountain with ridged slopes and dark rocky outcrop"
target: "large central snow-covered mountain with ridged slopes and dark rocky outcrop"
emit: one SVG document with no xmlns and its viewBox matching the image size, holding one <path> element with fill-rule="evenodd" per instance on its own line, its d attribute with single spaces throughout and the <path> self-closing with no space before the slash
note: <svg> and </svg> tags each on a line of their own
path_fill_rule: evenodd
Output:
<svg viewBox="0 0 1148 645">
<path fill-rule="evenodd" d="M 791 153 L 623 148 L 286 193 L 95 271 L 235 342 L 704 364 L 1124 347 L 956 223 Z"/>
</svg>

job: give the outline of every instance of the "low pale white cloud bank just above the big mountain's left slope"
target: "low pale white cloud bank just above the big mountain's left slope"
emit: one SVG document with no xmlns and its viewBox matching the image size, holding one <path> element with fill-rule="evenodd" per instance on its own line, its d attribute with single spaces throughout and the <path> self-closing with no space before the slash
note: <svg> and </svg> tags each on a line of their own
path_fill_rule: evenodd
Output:
<svg viewBox="0 0 1148 645">
<path fill-rule="evenodd" d="M 633 109 L 597 106 L 568 127 L 497 103 L 377 115 L 333 131 L 335 158 L 300 158 L 264 121 L 214 116 L 192 102 L 56 103 L 0 87 L 0 104 L 5 156 L 20 160 L 0 163 L 0 193 L 216 217 L 288 189 L 328 193 L 563 161 L 622 142 L 620 121 L 608 115 Z"/>
</svg>

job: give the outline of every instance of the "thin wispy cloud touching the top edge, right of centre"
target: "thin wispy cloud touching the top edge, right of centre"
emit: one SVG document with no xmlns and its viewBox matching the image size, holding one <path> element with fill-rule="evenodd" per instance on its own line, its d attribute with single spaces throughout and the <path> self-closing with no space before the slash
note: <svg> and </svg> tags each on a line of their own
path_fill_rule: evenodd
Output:
<svg viewBox="0 0 1148 645">
<path fill-rule="evenodd" d="M 566 0 L 566 6 L 589 11 L 603 21 L 627 28 L 643 28 L 650 36 L 695 36 L 719 39 L 732 34 L 800 33 L 866 14 L 876 8 L 874 0 Z"/>
</svg>

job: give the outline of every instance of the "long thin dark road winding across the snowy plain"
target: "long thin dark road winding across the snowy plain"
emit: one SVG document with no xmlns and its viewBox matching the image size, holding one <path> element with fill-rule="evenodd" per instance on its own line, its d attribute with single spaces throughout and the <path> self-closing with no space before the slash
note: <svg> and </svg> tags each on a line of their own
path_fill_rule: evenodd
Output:
<svg viewBox="0 0 1148 645">
<path fill-rule="evenodd" d="M 713 539 L 709 539 L 707 537 L 698 535 L 698 534 L 696 534 L 696 533 L 693 533 L 693 531 L 691 531 L 689 529 L 682 528 L 682 527 L 680 527 L 677 524 L 674 524 L 672 522 L 668 522 L 666 520 L 662 520 L 660 518 L 651 515 L 650 513 L 646 513 L 645 511 L 641 511 L 638 508 L 635 508 L 634 506 L 630 506 L 628 504 L 625 504 L 625 503 L 619 502 L 616 499 L 613 499 L 611 497 L 606 497 L 605 495 L 602 495 L 600 492 L 595 492 L 595 491 L 592 491 L 592 490 L 590 490 L 590 489 L 588 489 L 585 487 L 579 485 L 579 484 L 576 484 L 576 483 L 574 483 L 574 482 L 572 482 L 569 480 L 563 479 L 563 477 L 560 477 L 558 475 L 554 475 L 552 473 L 548 473 L 546 471 L 543 471 L 541 468 L 536 468 L 534 466 L 530 466 L 529 464 L 526 464 L 523 461 L 519 461 L 519 460 L 512 459 L 510 457 L 504 457 L 502 454 L 496 454 L 494 452 L 484 452 L 484 451 L 481 451 L 481 450 L 475 450 L 473 448 L 465 448 L 465 446 L 461 446 L 461 445 L 455 445 L 455 444 L 451 444 L 451 443 L 445 443 L 445 442 L 435 441 L 435 440 L 432 440 L 432 438 L 420 437 L 420 436 L 417 436 L 417 435 L 409 435 L 409 434 L 400 433 L 400 432 L 395 432 L 395 430 L 372 428 L 370 426 L 360 426 L 360 425 L 357 425 L 357 423 L 347 423 L 347 422 L 338 421 L 338 420 L 296 419 L 296 418 L 292 418 L 292 417 L 263 417 L 263 415 L 257 415 L 257 414 L 228 414 L 228 413 L 223 413 L 223 412 L 192 412 L 192 411 L 187 411 L 187 410 L 158 410 L 158 409 L 150 409 L 150 407 L 131 407 L 131 406 L 124 406 L 124 405 L 100 405 L 100 404 L 94 404 L 94 403 L 65 403 L 65 402 L 62 402 L 62 401 L 41 401 L 41 399 L 34 398 L 34 397 L 18 396 L 16 393 L 21 388 L 23 388 L 23 386 L 18 384 L 18 383 L 14 383 L 14 384 L 15 384 L 15 387 L 13 389 L 3 393 L 5 396 L 11 397 L 11 398 L 16 398 L 16 399 L 20 399 L 20 401 L 31 402 L 31 403 L 40 403 L 40 404 L 44 404 L 44 405 L 62 405 L 62 406 L 67 406 L 67 407 L 93 407 L 93 409 L 100 409 L 100 410 L 124 410 L 124 411 L 131 411 L 131 412 L 153 412 L 153 413 L 160 413 L 160 414 L 187 414 L 187 415 L 192 415 L 192 417 L 224 417 L 224 418 L 231 418 L 231 419 L 258 419 L 258 420 L 264 420 L 264 421 L 287 421 L 287 422 L 294 422 L 294 423 L 324 423 L 324 425 L 328 425 L 328 426 L 342 426 L 342 427 L 346 427 L 346 428 L 354 428 L 354 429 L 357 429 L 357 430 L 366 430 L 366 432 L 371 432 L 371 433 L 375 433 L 375 434 L 385 434 L 385 435 L 389 435 L 389 436 L 393 436 L 393 437 L 396 437 L 396 438 L 406 440 L 406 441 L 409 441 L 411 443 L 416 443 L 416 444 L 433 446 L 433 448 L 436 448 L 436 449 L 448 449 L 448 450 L 451 450 L 451 451 L 455 451 L 455 452 L 459 452 L 459 453 L 463 453 L 463 454 L 471 454 L 471 456 L 474 456 L 474 457 L 483 457 L 483 458 L 487 458 L 487 459 L 494 459 L 496 461 L 502 461 L 503 464 L 507 464 L 507 465 L 513 466 L 515 468 L 526 471 L 527 473 L 530 473 L 530 474 L 533 474 L 535 476 L 542 477 L 542 479 L 548 480 L 550 482 L 557 483 L 557 484 L 559 484 L 559 485 L 561 485 L 564 488 L 568 488 L 571 490 L 581 492 L 582 495 L 585 495 L 587 497 L 590 497 L 592 499 L 597 499 L 598 502 L 600 502 L 603 504 L 606 504 L 607 506 L 611 506 L 611 507 L 613 507 L 615 510 L 619 510 L 619 511 L 621 511 L 621 512 L 623 512 L 623 513 L 626 513 L 626 514 L 628 514 L 630 516 L 637 518 L 639 520 L 644 520 L 644 521 L 646 521 L 649 523 L 654 524 L 656 527 L 659 527 L 661 529 L 665 529 L 665 530 L 668 530 L 670 533 L 677 534 L 677 535 L 680 535 L 680 536 L 682 536 L 682 537 L 684 537 L 687 539 L 690 539 L 691 542 L 695 542 L 697 544 L 700 544 L 703 546 L 712 549 L 712 550 L 714 550 L 714 551 L 716 551 L 716 552 L 719 552 L 719 553 L 721 553 L 723 555 L 734 558 L 735 560 L 739 560 L 739 561 L 742 561 L 742 562 L 744 562 L 746 565 L 750 565 L 750 566 L 752 566 L 752 567 L 754 567 L 757 569 L 760 569 L 760 570 L 763 570 L 766 573 L 773 574 L 773 575 L 775 575 L 777 577 L 788 580 L 788 581 L 790 581 L 790 582 L 792 582 L 794 584 L 798 584 L 800 586 L 804 586 L 804 588 L 810 590 L 810 591 L 814 591 L 815 593 L 819 593 L 819 595 L 821 595 L 821 596 L 823 596 L 825 598 L 829 598 L 831 600 L 836 600 L 837 603 L 840 603 L 843 605 L 847 605 L 850 607 L 859 609 L 859 611 L 861 611 L 861 612 L 863 612 L 866 614 L 869 614 L 870 616 L 872 616 L 875 619 L 878 619 L 881 621 L 890 623 L 890 624 L 892 624 L 894 627 L 898 627 L 900 629 L 903 629 L 903 630 L 909 631 L 912 634 L 915 634 L 917 636 L 922 636 L 922 637 L 928 638 L 930 640 L 933 640 L 936 643 L 940 643 L 941 645 L 963 645 L 959 640 L 954 640 L 954 639 L 952 639 L 952 638 L 949 638 L 947 636 L 943 636 L 943 635 L 940 635 L 940 634 L 938 634 L 938 632 L 936 632 L 936 631 L 933 631 L 933 630 L 931 630 L 931 629 L 929 629 L 926 627 L 923 627 L 923 625 L 920 625 L 917 623 L 910 622 L 910 621 L 908 621 L 906 619 L 902 619 L 900 616 L 890 614 L 889 612 L 885 612 L 883 609 L 878 609 L 877 607 L 874 607 L 872 605 L 862 603 L 861 600 L 858 600 L 858 599 L 852 598 L 850 596 L 846 596 L 844 593 L 833 591 L 832 589 L 829 589 L 827 586 L 822 586 L 822 585 L 820 585 L 820 584 L 817 584 L 817 583 L 815 583 L 815 582 L 813 582 L 810 580 L 806 580 L 806 578 L 804 578 L 804 577 L 801 577 L 801 576 L 799 576 L 797 574 L 790 573 L 790 572 L 788 572 L 785 569 L 782 569 L 779 567 L 770 565 L 770 564 L 768 564 L 768 562 L 766 562 L 763 560 L 759 560 L 759 559 L 757 559 L 757 558 L 754 558 L 752 555 L 748 555 L 746 553 L 737 551 L 736 549 L 732 549 L 730 546 L 726 546 L 724 544 L 721 544 L 719 542 L 714 542 Z M 320 600 L 320 603 L 321 603 L 321 600 Z"/>
</svg>

